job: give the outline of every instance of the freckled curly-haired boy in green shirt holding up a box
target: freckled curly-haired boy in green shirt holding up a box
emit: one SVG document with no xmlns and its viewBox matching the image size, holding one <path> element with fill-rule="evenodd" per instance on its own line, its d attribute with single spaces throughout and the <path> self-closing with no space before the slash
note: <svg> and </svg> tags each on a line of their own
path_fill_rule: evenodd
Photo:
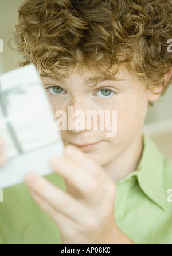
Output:
<svg viewBox="0 0 172 256">
<path fill-rule="evenodd" d="M 56 174 L 26 176 L 36 202 L 24 184 L 4 191 L 1 244 L 171 244 L 172 163 L 142 132 L 148 104 L 171 82 L 171 27 L 169 0 L 22 3 L 19 51 L 40 72 L 54 114 L 117 110 L 118 133 L 61 130 Z"/>
</svg>

